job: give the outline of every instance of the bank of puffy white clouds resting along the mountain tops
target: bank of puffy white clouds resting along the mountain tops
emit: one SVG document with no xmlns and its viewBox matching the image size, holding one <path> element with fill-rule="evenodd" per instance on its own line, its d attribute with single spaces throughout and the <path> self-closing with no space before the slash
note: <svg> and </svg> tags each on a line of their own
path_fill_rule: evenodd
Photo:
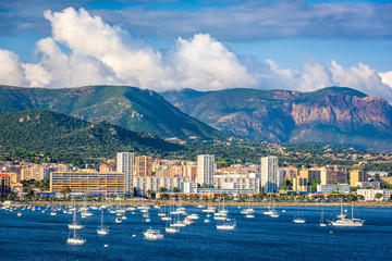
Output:
<svg viewBox="0 0 392 261">
<path fill-rule="evenodd" d="M 209 34 L 179 37 L 168 50 L 155 51 L 139 37 L 106 23 L 84 9 L 46 11 L 51 37 L 37 42 L 38 63 L 23 63 L 0 49 L 0 84 L 29 87 L 131 85 L 157 91 L 234 87 L 315 90 L 327 86 L 356 88 L 392 102 L 392 72 L 366 64 L 344 67 L 336 61 L 303 63 L 303 71 L 272 60 L 238 55 Z"/>
</svg>

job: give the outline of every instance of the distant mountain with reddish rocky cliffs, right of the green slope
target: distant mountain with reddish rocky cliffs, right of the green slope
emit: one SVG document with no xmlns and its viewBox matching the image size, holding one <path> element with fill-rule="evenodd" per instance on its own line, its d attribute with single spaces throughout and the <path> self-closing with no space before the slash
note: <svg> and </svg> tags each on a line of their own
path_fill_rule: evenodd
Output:
<svg viewBox="0 0 392 261">
<path fill-rule="evenodd" d="M 392 148 L 392 107 L 343 87 L 317 91 L 224 89 L 161 94 L 183 112 L 229 135 L 268 142 Z"/>
</svg>

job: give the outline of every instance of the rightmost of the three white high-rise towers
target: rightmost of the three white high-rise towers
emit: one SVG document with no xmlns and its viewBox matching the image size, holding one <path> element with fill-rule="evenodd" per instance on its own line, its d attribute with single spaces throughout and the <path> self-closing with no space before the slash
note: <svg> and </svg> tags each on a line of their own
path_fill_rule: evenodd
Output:
<svg viewBox="0 0 392 261">
<path fill-rule="evenodd" d="M 279 192 L 278 189 L 278 157 L 261 158 L 261 187 L 265 192 Z"/>
</svg>

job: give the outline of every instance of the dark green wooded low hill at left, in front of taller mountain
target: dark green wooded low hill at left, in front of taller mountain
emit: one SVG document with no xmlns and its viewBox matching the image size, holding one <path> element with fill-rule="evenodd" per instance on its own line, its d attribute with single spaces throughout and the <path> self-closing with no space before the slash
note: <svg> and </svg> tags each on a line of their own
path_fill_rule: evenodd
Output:
<svg viewBox="0 0 392 261">
<path fill-rule="evenodd" d="M 24 148 L 60 158 L 113 157 L 119 151 L 156 153 L 182 148 L 106 122 L 89 123 L 39 109 L 0 115 L 0 146 L 1 151 Z"/>
</svg>

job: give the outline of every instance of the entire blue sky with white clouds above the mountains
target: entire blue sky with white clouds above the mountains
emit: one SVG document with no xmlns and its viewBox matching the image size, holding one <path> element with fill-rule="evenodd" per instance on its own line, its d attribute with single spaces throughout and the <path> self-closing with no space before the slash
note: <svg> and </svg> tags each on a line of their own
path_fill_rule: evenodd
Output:
<svg viewBox="0 0 392 261">
<path fill-rule="evenodd" d="M 313 91 L 392 103 L 392 1 L 0 1 L 0 84 Z"/>
</svg>

